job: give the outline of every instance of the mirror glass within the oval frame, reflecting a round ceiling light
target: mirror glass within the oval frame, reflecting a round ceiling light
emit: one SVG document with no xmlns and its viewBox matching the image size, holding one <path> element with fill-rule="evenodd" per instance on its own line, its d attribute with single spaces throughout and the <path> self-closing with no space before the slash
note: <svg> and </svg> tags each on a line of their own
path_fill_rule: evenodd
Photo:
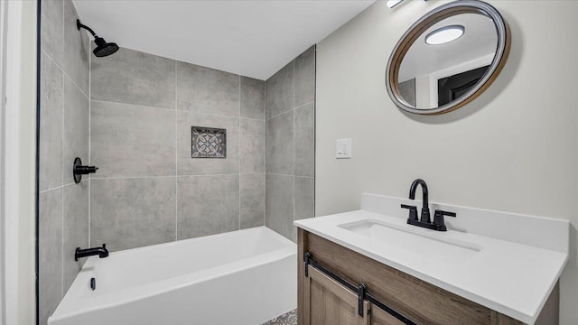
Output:
<svg viewBox="0 0 578 325">
<path fill-rule="evenodd" d="M 449 35 L 452 41 L 443 40 L 444 31 L 458 33 Z M 426 42 L 428 36 L 437 35 L 436 42 Z M 496 26 L 483 14 L 459 14 L 433 24 L 415 40 L 401 62 L 398 82 L 402 98 L 420 109 L 450 103 L 478 83 L 497 47 Z"/>
</svg>

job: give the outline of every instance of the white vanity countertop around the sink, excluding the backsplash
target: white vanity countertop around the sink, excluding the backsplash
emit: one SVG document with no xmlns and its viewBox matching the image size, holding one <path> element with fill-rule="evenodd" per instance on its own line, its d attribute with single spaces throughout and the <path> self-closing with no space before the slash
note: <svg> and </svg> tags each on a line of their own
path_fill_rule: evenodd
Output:
<svg viewBox="0 0 578 325">
<path fill-rule="evenodd" d="M 440 254 L 420 254 L 420 246 L 409 238 L 415 235 L 402 236 L 392 245 L 340 227 L 367 219 L 424 237 L 468 243 L 473 248 L 452 250 L 455 247 L 448 246 L 448 254 L 442 254 L 443 258 L 440 259 Z M 534 324 L 536 321 L 568 260 L 568 255 L 564 252 L 472 232 L 451 229 L 439 232 L 418 228 L 407 225 L 405 218 L 389 217 L 368 210 L 303 219 L 295 221 L 294 224 L 384 265 L 527 324 Z M 451 226 L 448 225 L 448 228 Z M 466 251 L 460 255 L 459 249 Z"/>
</svg>

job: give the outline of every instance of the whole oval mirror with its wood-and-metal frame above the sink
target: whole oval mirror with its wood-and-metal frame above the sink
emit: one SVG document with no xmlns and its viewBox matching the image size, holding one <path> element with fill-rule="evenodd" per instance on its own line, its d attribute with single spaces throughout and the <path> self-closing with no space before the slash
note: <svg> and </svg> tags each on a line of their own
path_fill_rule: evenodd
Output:
<svg viewBox="0 0 578 325">
<path fill-rule="evenodd" d="M 491 5 L 460 0 L 415 22 L 387 62 L 386 85 L 397 107 L 442 114 L 489 87 L 508 59 L 508 24 Z"/>
</svg>

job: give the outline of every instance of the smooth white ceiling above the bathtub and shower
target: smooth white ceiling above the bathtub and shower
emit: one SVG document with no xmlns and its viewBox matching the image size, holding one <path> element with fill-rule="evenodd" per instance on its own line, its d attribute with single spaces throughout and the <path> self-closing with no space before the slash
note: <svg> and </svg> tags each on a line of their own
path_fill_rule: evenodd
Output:
<svg viewBox="0 0 578 325">
<path fill-rule="evenodd" d="M 375 0 L 74 0 L 107 42 L 267 79 Z"/>
</svg>

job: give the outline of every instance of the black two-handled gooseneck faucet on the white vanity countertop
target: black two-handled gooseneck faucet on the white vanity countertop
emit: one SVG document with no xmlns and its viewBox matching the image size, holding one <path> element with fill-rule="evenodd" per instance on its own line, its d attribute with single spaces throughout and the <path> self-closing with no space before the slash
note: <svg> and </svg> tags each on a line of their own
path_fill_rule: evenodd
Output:
<svg viewBox="0 0 578 325">
<path fill-rule="evenodd" d="M 424 197 L 423 201 L 424 203 L 422 205 L 422 215 L 419 219 L 417 219 L 417 207 L 402 204 L 401 205 L 402 208 L 409 209 L 409 218 L 407 218 L 407 223 L 417 227 L 423 227 L 437 231 L 447 231 L 447 228 L 445 227 L 445 222 L 443 220 L 443 216 L 456 217 L 456 214 L 454 212 L 435 210 L 435 213 L 433 214 L 434 218 L 432 223 L 432 219 L 430 218 L 427 184 L 425 183 L 424 180 L 417 179 L 412 183 L 412 186 L 409 188 L 409 199 L 415 200 L 415 190 L 417 190 L 418 185 L 422 186 L 422 195 Z"/>
</svg>

